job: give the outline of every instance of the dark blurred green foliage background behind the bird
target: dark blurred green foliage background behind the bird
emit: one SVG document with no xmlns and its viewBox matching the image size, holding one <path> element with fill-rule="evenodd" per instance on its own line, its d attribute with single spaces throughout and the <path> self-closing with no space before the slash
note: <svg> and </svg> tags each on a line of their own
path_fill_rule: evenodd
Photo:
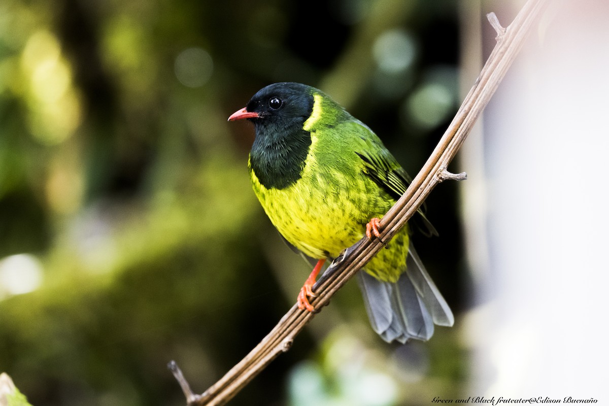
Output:
<svg viewBox="0 0 609 406">
<path fill-rule="evenodd" d="M 250 189 L 252 128 L 228 115 L 269 83 L 308 83 L 414 173 L 456 109 L 456 13 L 449 0 L 2 0 L 0 371 L 38 405 L 183 404 L 171 359 L 195 391 L 214 383 L 308 271 Z M 417 246 L 458 314 L 454 194 L 434 191 L 442 237 Z M 428 404 L 460 393 L 465 355 L 458 327 L 385 345 L 350 285 L 231 404 Z"/>
</svg>

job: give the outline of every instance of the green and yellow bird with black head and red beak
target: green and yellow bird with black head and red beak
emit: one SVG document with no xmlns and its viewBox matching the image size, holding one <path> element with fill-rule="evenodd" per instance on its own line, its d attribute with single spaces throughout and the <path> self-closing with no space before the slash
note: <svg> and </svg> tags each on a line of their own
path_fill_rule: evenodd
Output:
<svg viewBox="0 0 609 406">
<path fill-rule="evenodd" d="M 297 298 L 312 312 L 325 262 L 364 236 L 380 239 L 379 220 L 411 178 L 367 125 L 312 86 L 268 85 L 228 117 L 241 119 L 255 130 L 248 170 L 256 197 L 283 239 L 317 260 Z M 434 324 L 454 323 L 414 250 L 410 223 L 427 235 L 437 231 L 423 211 L 416 217 L 356 274 L 370 324 L 387 343 L 426 341 Z"/>
</svg>

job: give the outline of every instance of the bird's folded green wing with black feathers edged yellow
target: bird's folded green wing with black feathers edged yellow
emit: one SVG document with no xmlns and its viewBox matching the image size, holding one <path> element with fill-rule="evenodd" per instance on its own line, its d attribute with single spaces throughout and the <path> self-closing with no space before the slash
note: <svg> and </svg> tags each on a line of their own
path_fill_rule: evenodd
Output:
<svg viewBox="0 0 609 406">
<path fill-rule="evenodd" d="M 357 124 L 362 128 L 355 153 L 364 163 L 362 171 L 387 194 L 398 200 L 406 192 L 412 178 L 370 128 L 361 122 L 357 122 Z M 426 236 L 437 236 L 438 232 L 425 217 L 424 206 L 421 206 L 417 213 L 418 215 L 413 217 L 417 228 Z"/>
</svg>

